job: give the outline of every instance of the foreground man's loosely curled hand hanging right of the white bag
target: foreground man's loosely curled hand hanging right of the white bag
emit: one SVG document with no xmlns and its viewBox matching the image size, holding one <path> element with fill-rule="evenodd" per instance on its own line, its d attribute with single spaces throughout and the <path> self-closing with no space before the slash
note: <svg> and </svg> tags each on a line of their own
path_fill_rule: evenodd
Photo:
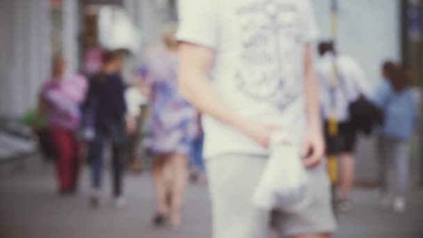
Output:
<svg viewBox="0 0 423 238">
<path fill-rule="evenodd" d="M 309 129 L 303 141 L 301 156 L 305 158 L 306 167 L 314 167 L 321 163 L 325 153 L 325 143 L 320 129 Z"/>
</svg>

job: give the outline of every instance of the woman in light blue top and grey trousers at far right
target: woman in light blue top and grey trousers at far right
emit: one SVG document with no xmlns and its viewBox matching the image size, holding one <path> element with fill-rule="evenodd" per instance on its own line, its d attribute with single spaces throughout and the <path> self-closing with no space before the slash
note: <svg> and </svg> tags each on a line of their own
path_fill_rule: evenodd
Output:
<svg viewBox="0 0 423 238">
<path fill-rule="evenodd" d="M 384 206 L 391 205 L 390 195 L 394 195 L 392 201 L 394 211 L 404 212 L 410 160 L 408 148 L 415 127 L 416 105 L 413 90 L 410 88 L 410 79 L 402 66 L 385 63 L 383 76 L 385 79 L 374 95 L 374 103 L 385 113 L 383 125 L 378 131 L 377 143 L 381 203 Z M 390 177 L 388 172 L 391 166 L 396 173 L 394 189 L 388 186 Z"/>
</svg>

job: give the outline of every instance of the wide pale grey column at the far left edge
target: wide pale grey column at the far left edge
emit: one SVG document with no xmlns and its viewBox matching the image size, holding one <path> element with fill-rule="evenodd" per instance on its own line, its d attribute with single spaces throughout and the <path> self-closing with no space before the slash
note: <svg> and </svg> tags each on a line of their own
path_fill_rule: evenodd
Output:
<svg viewBox="0 0 423 238">
<path fill-rule="evenodd" d="M 49 74 L 49 0 L 0 1 L 0 114 L 35 106 Z"/>
</svg>

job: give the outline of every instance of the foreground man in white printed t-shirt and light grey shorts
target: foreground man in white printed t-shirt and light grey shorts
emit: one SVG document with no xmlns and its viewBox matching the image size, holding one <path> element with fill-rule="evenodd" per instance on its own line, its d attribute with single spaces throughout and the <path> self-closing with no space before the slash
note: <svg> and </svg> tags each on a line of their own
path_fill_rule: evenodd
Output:
<svg viewBox="0 0 423 238">
<path fill-rule="evenodd" d="M 330 237 L 310 0 L 181 0 L 179 17 L 179 88 L 203 115 L 214 237 L 266 237 L 269 212 L 252 196 L 279 129 L 303 143 L 310 176 L 311 203 L 284 212 L 285 235 Z"/>
</svg>

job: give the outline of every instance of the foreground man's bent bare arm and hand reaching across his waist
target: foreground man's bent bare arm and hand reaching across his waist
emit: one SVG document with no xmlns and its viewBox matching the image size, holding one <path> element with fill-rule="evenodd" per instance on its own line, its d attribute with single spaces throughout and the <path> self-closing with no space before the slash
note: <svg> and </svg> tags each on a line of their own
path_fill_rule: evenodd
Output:
<svg viewBox="0 0 423 238">
<path fill-rule="evenodd" d="M 205 113 L 250 136 L 267 147 L 271 125 L 251 122 L 225 104 L 209 81 L 214 51 L 207 47 L 182 42 L 179 46 L 179 90 L 200 113 Z"/>
</svg>

